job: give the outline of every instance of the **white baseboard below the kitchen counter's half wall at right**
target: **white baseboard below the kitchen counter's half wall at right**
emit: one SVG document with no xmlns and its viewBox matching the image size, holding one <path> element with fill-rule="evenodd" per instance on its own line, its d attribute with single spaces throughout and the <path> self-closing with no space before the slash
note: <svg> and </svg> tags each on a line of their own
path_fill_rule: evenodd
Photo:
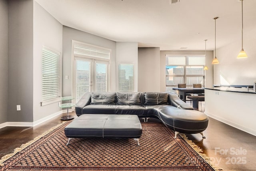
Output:
<svg viewBox="0 0 256 171">
<path fill-rule="evenodd" d="M 216 120 L 218 120 L 218 121 L 221 121 L 221 122 L 223 122 L 223 123 L 226 123 L 227 125 L 230 125 L 230 126 L 232 126 L 232 127 L 235 127 L 235 128 L 237 128 L 237 129 L 240 129 L 240 130 L 242 130 L 242 131 L 244 131 L 244 132 L 247 132 L 247 133 L 250 133 L 250 134 L 256 136 L 256 130 L 252 130 L 252 129 L 248 128 L 248 127 L 244 127 L 243 125 L 239 125 L 239 124 L 237 124 L 237 123 L 228 121 L 228 120 L 226 120 L 226 119 L 224 119 L 224 118 L 222 118 L 222 117 L 219 117 L 219 116 L 216 116 L 216 115 L 212 115 L 211 113 L 208 113 L 208 112 L 204 112 L 204 113 L 205 113 L 207 116 L 212 117 L 213 119 L 216 119 Z"/>
</svg>

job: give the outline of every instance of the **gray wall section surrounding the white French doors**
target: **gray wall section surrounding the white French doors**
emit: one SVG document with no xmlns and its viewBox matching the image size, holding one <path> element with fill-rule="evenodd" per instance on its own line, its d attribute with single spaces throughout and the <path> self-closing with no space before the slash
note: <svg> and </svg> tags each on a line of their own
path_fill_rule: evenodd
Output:
<svg viewBox="0 0 256 171">
<path fill-rule="evenodd" d="M 116 90 L 116 42 L 108 40 L 93 34 L 82 32 L 74 28 L 63 26 L 63 63 L 62 63 L 62 95 L 74 96 L 74 87 L 72 83 L 74 82 L 73 73 L 73 61 L 72 61 L 72 40 L 79 42 L 84 42 L 87 44 L 92 44 L 95 46 L 100 46 L 104 48 L 111 49 L 111 59 L 110 59 L 110 91 Z M 65 76 L 68 76 L 68 80 L 65 80 Z"/>
</svg>

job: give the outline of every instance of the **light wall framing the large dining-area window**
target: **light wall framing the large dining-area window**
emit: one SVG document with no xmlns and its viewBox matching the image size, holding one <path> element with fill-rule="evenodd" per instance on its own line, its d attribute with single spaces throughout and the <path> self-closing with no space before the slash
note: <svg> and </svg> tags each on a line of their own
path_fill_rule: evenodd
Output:
<svg viewBox="0 0 256 171">
<path fill-rule="evenodd" d="M 165 66 L 166 66 L 166 55 L 204 55 L 205 51 L 160 51 L 160 91 L 166 91 L 166 78 L 165 78 Z M 212 65 L 213 51 L 206 51 L 206 84 L 205 87 L 212 88 L 213 86 L 213 69 Z"/>
</svg>

